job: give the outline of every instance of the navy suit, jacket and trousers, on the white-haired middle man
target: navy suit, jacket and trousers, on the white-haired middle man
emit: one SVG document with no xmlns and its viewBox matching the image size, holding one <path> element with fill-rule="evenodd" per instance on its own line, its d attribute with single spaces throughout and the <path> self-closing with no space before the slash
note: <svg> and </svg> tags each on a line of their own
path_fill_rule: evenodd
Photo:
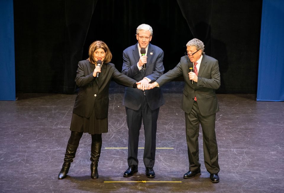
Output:
<svg viewBox="0 0 284 193">
<path fill-rule="evenodd" d="M 155 82 L 164 72 L 164 52 L 161 48 L 149 44 L 147 51 L 146 71 L 139 70 L 137 63 L 140 59 L 137 44 L 123 51 L 122 73 L 137 81 L 147 77 Z M 139 90 L 137 88 L 125 88 L 123 105 L 126 109 L 128 124 L 128 165 L 138 165 L 138 141 L 139 131 L 144 125 L 145 146 L 143 162 L 146 167 L 153 167 L 156 152 L 156 129 L 159 115 L 159 107 L 164 104 L 164 98 L 160 88 L 152 90 Z"/>
</svg>

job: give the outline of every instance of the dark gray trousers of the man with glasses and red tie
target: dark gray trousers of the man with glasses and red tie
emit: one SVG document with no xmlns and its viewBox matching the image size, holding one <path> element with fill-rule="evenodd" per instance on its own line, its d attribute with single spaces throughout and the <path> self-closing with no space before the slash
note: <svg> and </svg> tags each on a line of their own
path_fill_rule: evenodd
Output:
<svg viewBox="0 0 284 193">
<path fill-rule="evenodd" d="M 216 113 L 209 116 L 200 114 L 198 103 L 194 102 L 190 113 L 185 113 L 186 142 L 188 148 L 189 170 L 200 168 L 199 162 L 199 124 L 202 127 L 204 164 L 209 173 L 218 173 L 218 147 L 215 134 Z"/>
</svg>

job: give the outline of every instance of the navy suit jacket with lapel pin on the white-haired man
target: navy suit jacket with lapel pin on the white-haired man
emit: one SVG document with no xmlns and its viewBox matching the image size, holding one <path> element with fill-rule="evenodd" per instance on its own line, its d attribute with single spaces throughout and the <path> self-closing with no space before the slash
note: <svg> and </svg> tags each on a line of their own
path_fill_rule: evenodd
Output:
<svg viewBox="0 0 284 193">
<path fill-rule="evenodd" d="M 163 58 L 163 50 L 149 43 L 146 71 L 139 70 L 137 63 L 140 56 L 138 46 L 135 44 L 123 51 L 122 73 L 137 81 L 147 77 L 151 80 L 151 82 L 155 82 L 157 78 L 164 73 Z M 141 107 L 141 101 L 142 97 L 144 97 L 144 93 L 151 110 L 159 108 L 164 104 L 162 92 L 158 87 L 151 90 L 145 90 L 144 92 L 137 88 L 126 87 L 123 105 L 137 111 Z"/>
</svg>

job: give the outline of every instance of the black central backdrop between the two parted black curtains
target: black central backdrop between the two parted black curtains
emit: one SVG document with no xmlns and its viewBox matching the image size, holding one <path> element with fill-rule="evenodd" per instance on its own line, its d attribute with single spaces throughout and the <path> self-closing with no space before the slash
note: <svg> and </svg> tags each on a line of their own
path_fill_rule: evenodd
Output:
<svg viewBox="0 0 284 193">
<path fill-rule="evenodd" d="M 147 12 L 145 11 L 147 10 Z M 88 57 L 89 45 L 104 41 L 112 52 L 112 63 L 121 71 L 122 52 L 137 43 L 136 28 L 146 23 L 153 28 L 151 43 L 164 51 L 165 72 L 175 67 L 193 38 L 177 1 L 102 1 L 97 2 L 83 51 Z M 180 79 L 178 79 L 180 80 Z"/>
</svg>

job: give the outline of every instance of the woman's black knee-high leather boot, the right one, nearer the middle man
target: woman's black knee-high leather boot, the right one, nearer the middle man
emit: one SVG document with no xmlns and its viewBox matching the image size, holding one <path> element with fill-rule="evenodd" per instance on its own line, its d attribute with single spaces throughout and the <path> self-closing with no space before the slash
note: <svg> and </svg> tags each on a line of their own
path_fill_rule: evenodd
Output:
<svg viewBox="0 0 284 193">
<path fill-rule="evenodd" d="M 101 155 L 101 142 L 100 143 L 94 143 L 92 142 L 91 145 L 91 178 L 97 179 L 99 178 L 98 173 L 98 162 Z"/>
</svg>

